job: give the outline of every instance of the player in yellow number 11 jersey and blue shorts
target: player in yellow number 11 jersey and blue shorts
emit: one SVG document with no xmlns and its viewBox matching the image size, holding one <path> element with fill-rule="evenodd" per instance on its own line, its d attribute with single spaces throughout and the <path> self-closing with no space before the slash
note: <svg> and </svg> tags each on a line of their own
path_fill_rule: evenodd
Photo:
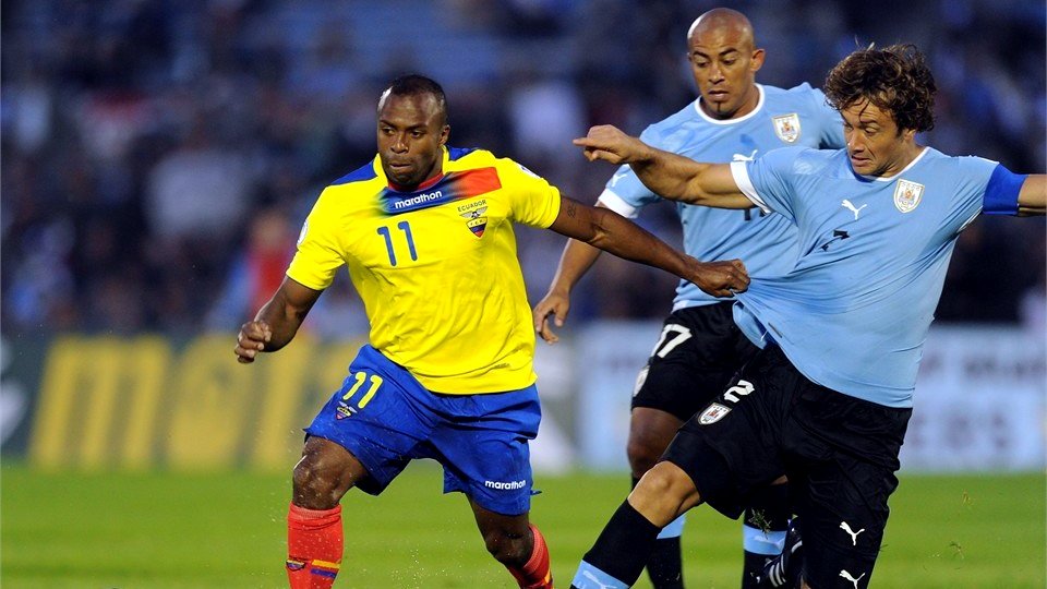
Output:
<svg viewBox="0 0 1047 589">
<path fill-rule="evenodd" d="M 342 495 L 381 493 L 416 458 L 443 465 L 444 491 L 466 494 L 488 551 L 520 587 L 553 586 L 549 550 L 528 519 L 528 441 L 541 410 L 513 221 L 715 296 L 748 284 L 737 260 L 698 262 L 513 160 L 446 146 L 449 133 L 438 84 L 395 80 L 378 100 L 378 157 L 323 191 L 282 285 L 237 338 L 244 363 L 286 346 L 341 265 L 371 323 L 370 344 L 305 430 L 287 517 L 292 589 L 334 582 Z"/>
</svg>

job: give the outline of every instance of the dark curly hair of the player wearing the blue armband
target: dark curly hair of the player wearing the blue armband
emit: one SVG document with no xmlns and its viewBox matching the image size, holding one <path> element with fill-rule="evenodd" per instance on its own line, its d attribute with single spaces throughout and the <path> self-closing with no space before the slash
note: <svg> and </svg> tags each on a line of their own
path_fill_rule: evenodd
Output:
<svg viewBox="0 0 1047 589">
<path fill-rule="evenodd" d="M 899 130 L 935 127 L 935 76 L 915 45 L 869 47 L 843 58 L 826 77 L 826 97 L 837 110 L 868 100 L 890 112 Z"/>
</svg>

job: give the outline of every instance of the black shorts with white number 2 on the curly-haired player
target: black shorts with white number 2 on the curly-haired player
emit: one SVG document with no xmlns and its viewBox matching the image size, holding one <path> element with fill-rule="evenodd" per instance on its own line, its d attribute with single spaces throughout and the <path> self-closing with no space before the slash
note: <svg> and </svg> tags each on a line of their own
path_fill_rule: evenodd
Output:
<svg viewBox="0 0 1047 589">
<path fill-rule="evenodd" d="M 911 414 L 817 385 L 769 346 L 681 428 L 663 458 L 732 518 L 751 490 L 787 476 L 803 521 L 805 578 L 813 587 L 862 589 L 898 488 Z"/>
</svg>

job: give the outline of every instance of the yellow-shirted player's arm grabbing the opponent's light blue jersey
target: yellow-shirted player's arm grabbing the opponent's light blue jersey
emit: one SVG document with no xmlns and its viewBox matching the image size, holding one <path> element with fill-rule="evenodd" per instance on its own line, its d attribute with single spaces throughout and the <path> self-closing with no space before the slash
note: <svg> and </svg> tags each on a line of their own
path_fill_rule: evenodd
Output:
<svg viewBox="0 0 1047 589">
<path fill-rule="evenodd" d="M 587 206 L 566 196 L 550 229 L 618 257 L 671 272 L 713 297 L 731 297 L 749 285 L 745 266 L 738 260 L 699 262 L 613 211 Z M 540 327 L 535 324 L 537 329 Z"/>
</svg>

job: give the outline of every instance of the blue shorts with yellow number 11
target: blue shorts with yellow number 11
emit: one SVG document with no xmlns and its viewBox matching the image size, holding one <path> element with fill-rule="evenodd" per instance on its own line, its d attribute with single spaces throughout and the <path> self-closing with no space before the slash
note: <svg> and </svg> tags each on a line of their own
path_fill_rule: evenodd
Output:
<svg viewBox="0 0 1047 589">
<path fill-rule="evenodd" d="M 411 460 L 432 458 L 444 467 L 444 493 L 461 491 L 485 509 L 516 516 L 530 510 L 527 444 L 541 419 L 533 385 L 483 395 L 432 393 L 364 346 L 305 432 L 356 456 L 371 476 L 357 486 L 372 495 Z"/>
</svg>

